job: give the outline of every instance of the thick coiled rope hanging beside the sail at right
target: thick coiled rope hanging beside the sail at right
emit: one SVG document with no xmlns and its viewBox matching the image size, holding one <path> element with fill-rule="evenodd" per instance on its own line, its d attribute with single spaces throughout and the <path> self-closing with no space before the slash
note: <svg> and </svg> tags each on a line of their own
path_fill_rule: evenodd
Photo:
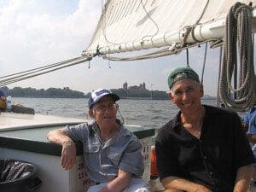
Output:
<svg viewBox="0 0 256 192">
<path fill-rule="evenodd" d="M 239 112 L 247 111 L 256 101 L 251 11 L 251 7 L 246 4 L 236 3 L 231 7 L 226 18 L 219 95 L 225 108 Z M 236 41 L 238 50 L 236 50 Z M 234 75 L 237 52 L 239 54 L 239 79 L 236 88 L 232 86 L 231 80 L 237 79 Z"/>
</svg>

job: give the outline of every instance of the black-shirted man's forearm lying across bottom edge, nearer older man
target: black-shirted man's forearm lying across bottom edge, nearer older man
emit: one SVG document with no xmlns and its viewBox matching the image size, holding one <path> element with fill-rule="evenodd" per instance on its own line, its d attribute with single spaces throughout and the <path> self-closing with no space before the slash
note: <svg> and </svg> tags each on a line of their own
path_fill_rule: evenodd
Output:
<svg viewBox="0 0 256 192">
<path fill-rule="evenodd" d="M 181 177 L 165 177 L 162 179 L 161 183 L 165 187 L 165 190 L 172 191 L 173 189 L 178 189 L 177 191 L 186 192 L 212 192 L 204 185 L 190 182 Z"/>
</svg>

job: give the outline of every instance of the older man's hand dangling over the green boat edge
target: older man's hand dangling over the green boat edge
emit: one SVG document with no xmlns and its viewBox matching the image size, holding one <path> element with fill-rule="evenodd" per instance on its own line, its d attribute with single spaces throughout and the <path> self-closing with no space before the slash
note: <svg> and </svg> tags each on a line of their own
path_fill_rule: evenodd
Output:
<svg viewBox="0 0 256 192">
<path fill-rule="evenodd" d="M 73 167 L 76 162 L 76 146 L 72 140 L 68 140 L 62 144 L 61 165 L 68 170 Z"/>
</svg>

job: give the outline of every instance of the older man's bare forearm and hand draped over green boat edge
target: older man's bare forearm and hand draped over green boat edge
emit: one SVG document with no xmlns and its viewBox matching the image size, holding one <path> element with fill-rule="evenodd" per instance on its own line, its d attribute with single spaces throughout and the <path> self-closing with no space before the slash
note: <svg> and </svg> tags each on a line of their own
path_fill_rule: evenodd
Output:
<svg viewBox="0 0 256 192">
<path fill-rule="evenodd" d="M 73 140 L 67 136 L 64 129 L 49 131 L 47 139 L 50 143 L 62 146 L 61 166 L 66 170 L 71 169 L 76 161 L 76 146 Z"/>
</svg>

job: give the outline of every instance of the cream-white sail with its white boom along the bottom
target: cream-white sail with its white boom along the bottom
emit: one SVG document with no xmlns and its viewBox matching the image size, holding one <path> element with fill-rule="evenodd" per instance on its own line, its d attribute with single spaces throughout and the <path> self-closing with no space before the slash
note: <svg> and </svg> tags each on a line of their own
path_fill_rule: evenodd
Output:
<svg viewBox="0 0 256 192">
<path fill-rule="evenodd" d="M 224 37 L 235 0 L 108 0 L 83 55 L 171 47 Z M 256 1 L 240 1 L 248 4 Z"/>
</svg>

